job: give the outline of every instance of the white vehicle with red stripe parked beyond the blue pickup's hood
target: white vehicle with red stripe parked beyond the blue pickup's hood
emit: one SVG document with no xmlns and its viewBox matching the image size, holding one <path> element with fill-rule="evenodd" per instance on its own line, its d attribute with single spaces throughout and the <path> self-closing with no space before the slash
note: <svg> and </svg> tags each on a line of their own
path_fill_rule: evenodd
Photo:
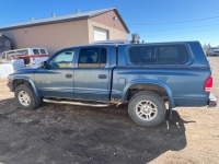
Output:
<svg viewBox="0 0 219 164">
<path fill-rule="evenodd" d="M 2 59 L 23 59 L 26 67 L 37 68 L 41 62 L 48 59 L 48 52 L 46 48 L 22 48 L 3 51 L 1 54 Z"/>
</svg>

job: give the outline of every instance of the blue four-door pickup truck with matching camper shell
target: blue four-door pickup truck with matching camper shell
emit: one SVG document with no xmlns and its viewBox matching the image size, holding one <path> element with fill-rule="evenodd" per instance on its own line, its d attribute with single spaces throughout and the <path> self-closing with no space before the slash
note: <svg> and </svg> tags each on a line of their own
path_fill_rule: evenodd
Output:
<svg viewBox="0 0 219 164">
<path fill-rule="evenodd" d="M 93 107 L 128 103 L 139 126 L 160 125 L 178 106 L 216 107 L 211 69 L 198 42 L 103 42 L 57 51 L 37 69 L 9 75 L 19 107 L 42 102 Z"/>
</svg>

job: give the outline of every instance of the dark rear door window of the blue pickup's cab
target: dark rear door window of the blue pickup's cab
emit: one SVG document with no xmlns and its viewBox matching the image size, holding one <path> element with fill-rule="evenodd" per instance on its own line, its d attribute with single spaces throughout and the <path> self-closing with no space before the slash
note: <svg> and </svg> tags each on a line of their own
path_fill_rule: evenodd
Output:
<svg viewBox="0 0 219 164">
<path fill-rule="evenodd" d="M 103 68 L 106 65 L 105 48 L 82 48 L 79 52 L 79 68 Z"/>
</svg>

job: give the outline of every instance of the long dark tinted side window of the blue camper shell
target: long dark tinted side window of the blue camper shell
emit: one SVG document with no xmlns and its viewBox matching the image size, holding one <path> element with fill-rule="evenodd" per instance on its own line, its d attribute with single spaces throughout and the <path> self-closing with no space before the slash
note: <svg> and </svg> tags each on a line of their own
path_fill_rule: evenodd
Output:
<svg viewBox="0 0 219 164">
<path fill-rule="evenodd" d="M 184 45 L 136 46 L 129 49 L 134 65 L 183 65 L 188 60 Z"/>
</svg>

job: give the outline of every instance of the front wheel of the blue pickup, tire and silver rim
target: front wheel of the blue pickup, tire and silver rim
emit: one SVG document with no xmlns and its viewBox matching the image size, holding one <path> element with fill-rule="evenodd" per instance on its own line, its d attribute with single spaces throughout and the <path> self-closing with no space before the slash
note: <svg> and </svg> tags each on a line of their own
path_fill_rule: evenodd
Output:
<svg viewBox="0 0 219 164">
<path fill-rule="evenodd" d="M 23 109 L 35 109 L 42 104 L 42 97 L 34 94 L 31 85 L 22 84 L 15 89 L 16 105 Z"/>
</svg>

